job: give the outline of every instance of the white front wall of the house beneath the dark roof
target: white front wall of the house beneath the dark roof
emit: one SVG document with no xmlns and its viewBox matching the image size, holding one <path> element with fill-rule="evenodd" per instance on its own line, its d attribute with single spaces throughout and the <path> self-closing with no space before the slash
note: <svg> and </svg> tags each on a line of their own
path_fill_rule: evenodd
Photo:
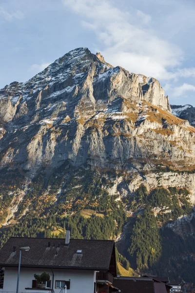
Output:
<svg viewBox="0 0 195 293">
<path fill-rule="evenodd" d="M 53 273 L 51 269 L 39 269 L 39 268 L 21 268 L 20 269 L 20 284 L 19 292 L 26 292 L 25 288 L 32 288 L 32 280 L 35 273 L 48 272 L 50 274 L 51 286 L 53 280 Z M 93 293 L 94 282 L 96 282 L 96 272 L 89 270 L 64 270 L 53 269 L 54 272 L 54 291 L 59 293 L 61 289 L 55 289 L 56 280 L 70 280 L 70 290 L 67 293 Z M 18 268 L 6 267 L 4 274 L 3 289 L 0 289 L 0 293 L 4 292 L 16 292 L 18 277 Z M 38 291 L 34 291 L 35 293 Z M 44 293 L 44 291 L 42 291 Z M 63 290 L 64 293 L 64 290 Z"/>
</svg>

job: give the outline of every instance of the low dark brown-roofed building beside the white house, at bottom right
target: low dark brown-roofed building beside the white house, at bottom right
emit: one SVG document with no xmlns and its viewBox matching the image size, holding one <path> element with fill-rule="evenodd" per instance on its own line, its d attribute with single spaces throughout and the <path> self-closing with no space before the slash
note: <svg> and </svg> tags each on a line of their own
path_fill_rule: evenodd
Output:
<svg viewBox="0 0 195 293">
<path fill-rule="evenodd" d="M 152 277 L 116 277 L 113 285 L 121 293 L 171 293 L 171 286 Z"/>
</svg>

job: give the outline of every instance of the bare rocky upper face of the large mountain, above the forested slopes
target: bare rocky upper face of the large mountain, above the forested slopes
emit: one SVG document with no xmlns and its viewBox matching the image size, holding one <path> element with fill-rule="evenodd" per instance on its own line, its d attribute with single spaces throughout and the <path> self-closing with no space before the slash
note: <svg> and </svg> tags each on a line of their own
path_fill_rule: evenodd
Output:
<svg viewBox="0 0 195 293">
<path fill-rule="evenodd" d="M 78 48 L 26 83 L 0 90 L 1 167 L 193 165 L 195 129 L 171 114 L 154 78 Z M 131 163 L 130 163 L 131 161 Z"/>
</svg>

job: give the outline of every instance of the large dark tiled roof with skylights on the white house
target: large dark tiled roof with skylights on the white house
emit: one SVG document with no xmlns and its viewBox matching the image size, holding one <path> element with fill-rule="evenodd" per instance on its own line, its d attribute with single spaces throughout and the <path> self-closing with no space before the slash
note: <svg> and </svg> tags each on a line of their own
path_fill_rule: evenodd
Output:
<svg viewBox="0 0 195 293">
<path fill-rule="evenodd" d="M 30 251 L 22 251 L 21 266 L 109 270 L 114 241 L 71 239 L 65 246 L 65 239 L 11 237 L 0 250 L 0 266 L 18 266 L 19 248 L 25 246 Z"/>
</svg>

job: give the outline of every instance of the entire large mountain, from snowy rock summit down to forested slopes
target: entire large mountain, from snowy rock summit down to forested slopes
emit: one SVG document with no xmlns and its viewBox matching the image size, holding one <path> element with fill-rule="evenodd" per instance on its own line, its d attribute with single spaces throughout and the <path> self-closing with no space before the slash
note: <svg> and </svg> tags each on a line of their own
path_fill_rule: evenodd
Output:
<svg viewBox="0 0 195 293">
<path fill-rule="evenodd" d="M 117 237 L 138 271 L 169 266 L 178 279 L 177 264 L 194 265 L 195 128 L 171 113 L 155 78 L 100 53 L 75 49 L 0 90 L 0 177 L 2 244 L 69 227 Z M 176 243 L 185 246 L 171 254 Z"/>
</svg>

